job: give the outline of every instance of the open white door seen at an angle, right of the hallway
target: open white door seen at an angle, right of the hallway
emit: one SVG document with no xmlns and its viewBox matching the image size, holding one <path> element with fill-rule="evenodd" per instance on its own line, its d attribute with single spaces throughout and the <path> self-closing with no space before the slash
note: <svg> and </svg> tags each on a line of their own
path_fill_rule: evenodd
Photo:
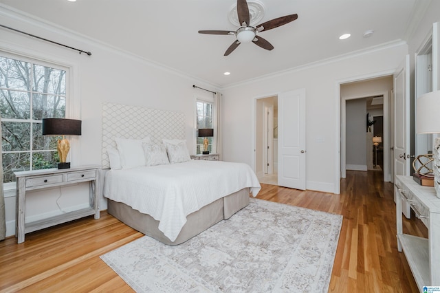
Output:
<svg viewBox="0 0 440 293">
<path fill-rule="evenodd" d="M 406 55 L 394 74 L 394 173 L 410 175 L 410 56 Z M 394 180 L 394 182 L 396 182 Z M 401 200 L 396 193 L 394 199 Z M 410 206 L 402 200 L 402 211 L 410 218 Z"/>
</svg>

